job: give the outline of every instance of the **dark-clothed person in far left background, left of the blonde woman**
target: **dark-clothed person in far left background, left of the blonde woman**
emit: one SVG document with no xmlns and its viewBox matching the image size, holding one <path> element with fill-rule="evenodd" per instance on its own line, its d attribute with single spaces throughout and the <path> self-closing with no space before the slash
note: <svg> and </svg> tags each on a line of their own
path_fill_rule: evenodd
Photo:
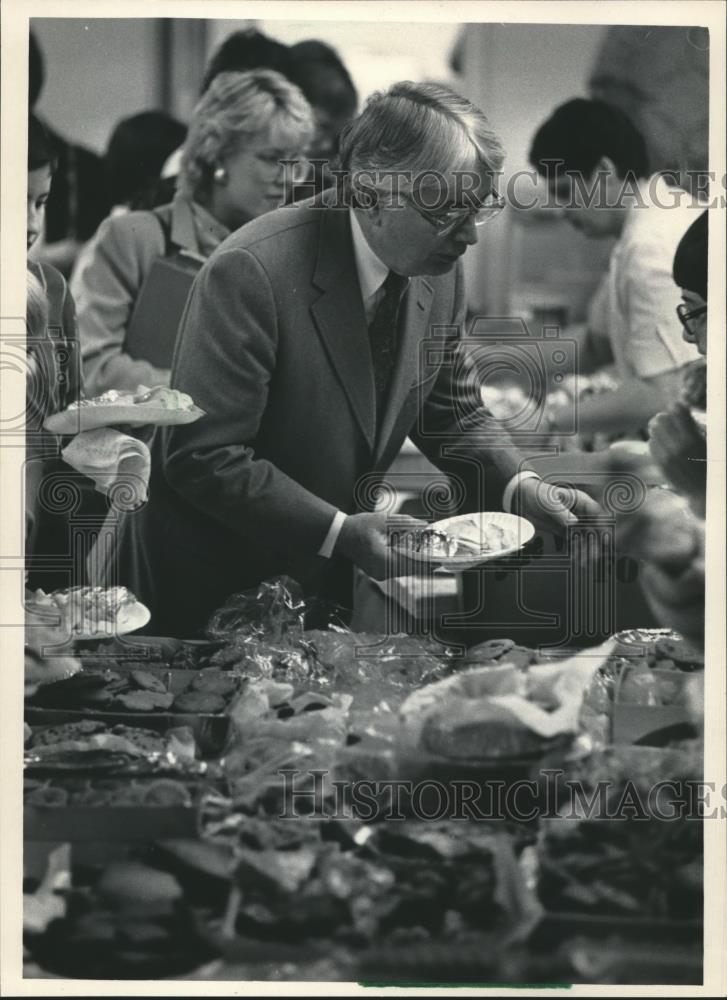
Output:
<svg viewBox="0 0 727 1000">
<path fill-rule="evenodd" d="M 43 53 L 33 32 L 29 38 L 29 101 L 31 111 L 45 82 Z M 53 185 L 35 255 L 70 274 L 81 245 L 108 215 L 109 201 L 103 161 L 96 153 L 69 142 L 43 123 L 55 157 Z"/>
</svg>

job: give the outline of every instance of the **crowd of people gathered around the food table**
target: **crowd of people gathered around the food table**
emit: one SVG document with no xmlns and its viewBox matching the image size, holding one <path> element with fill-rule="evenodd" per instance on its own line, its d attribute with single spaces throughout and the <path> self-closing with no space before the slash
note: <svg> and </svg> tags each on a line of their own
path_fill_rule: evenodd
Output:
<svg viewBox="0 0 727 1000">
<path fill-rule="evenodd" d="M 31 107 L 34 45 L 33 60 Z M 231 593 L 276 574 L 343 606 L 352 567 L 400 574 L 360 484 L 385 479 L 407 437 L 459 482 L 463 510 L 556 533 L 598 515 L 587 488 L 549 488 L 468 377 L 459 258 L 504 207 L 486 116 L 434 83 L 357 106 L 329 46 L 238 32 L 186 127 L 159 111 L 117 125 L 88 182 L 103 211 L 65 231 L 51 206 L 67 197 L 68 144 L 30 114 L 28 250 L 44 246 L 28 262 L 29 587 L 58 585 L 68 547 L 46 499 L 63 441 L 44 420 L 140 384 L 186 393 L 205 416 L 157 428 L 148 501 L 115 517 L 93 579 L 70 582 L 127 586 L 153 634 L 195 636 Z M 609 475 L 655 486 L 620 535 L 656 619 L 701 641 L 707 212 L 650 175 L 643 137 L 600 101 L 557 109 L 530 158 L 574 227 L 615 238 L 579 370 L 610 366 L 617 388 L 582 403 L 579 429 L 648 442 L 604 453 Z M 549 432 L 561 417 L 548 411 Z"/>
</svg>

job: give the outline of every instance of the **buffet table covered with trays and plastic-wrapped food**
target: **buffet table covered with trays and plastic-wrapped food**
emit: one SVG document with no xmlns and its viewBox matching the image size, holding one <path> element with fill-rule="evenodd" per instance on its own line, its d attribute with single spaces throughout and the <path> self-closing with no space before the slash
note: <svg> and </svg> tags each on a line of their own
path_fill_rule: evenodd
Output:
<svg viewBox="0 0 727 1000">
<path fill-rule="evenodd" d="M 701 982 L 701 819 L 649 794 L 702 777 L 697 650 L 632 631 L 589 666 L 309 610 L 273 581 L 208 641 L 76 643 L 30 690 L 26 976 Z"/>
</svg>

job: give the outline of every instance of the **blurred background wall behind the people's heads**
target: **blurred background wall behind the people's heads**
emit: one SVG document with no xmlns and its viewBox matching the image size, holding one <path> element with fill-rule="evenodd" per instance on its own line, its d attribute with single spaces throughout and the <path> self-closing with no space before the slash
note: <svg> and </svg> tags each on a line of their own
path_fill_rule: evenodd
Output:
<svg viewBox="0 0 727 1000">
<path fill-rule="evenodd" d="M 453 84 L 502 136 L 506 178 L 527 168 L 533 133 L 556 105 L 589 93 L 638 121 L 655 165 L 707 165 L 705 29 L 199 18 L 31 24 L 46 67 L 39 113 L 98 153 L 115 123 L 135 112 L 161 108 L 186 121 L 211 53 L 254 25 L 283 42 L 333 45 L 362 100 L 400 79 Z M 524 184 L 519 190 L 531 197 L 533 183 Z M 609 251 L 608 242 L 588 240 L 552 214 L 509 210 L 465 258 L 471 311 L 502 316 L 564 304 L 568 320 L 580 320 Z"/>
</svg>

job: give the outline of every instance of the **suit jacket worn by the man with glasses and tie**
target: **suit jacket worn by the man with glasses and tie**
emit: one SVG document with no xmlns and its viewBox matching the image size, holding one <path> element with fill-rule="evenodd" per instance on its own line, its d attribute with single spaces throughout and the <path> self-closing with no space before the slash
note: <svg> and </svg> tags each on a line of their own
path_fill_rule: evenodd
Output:
<svg viewBox="0 0 727 1000">
<path fill-rule="evenodd" d="M 345 603 L 350 567 L 318 550 L 337 510 L 370 509 L 372 476 L 407 435 L 461 478 L 469 509 L 498 509 L 519 468 L 504 434 L 496 449 L 478 440 L 492 421 L 463 391 L 459 267 L 412 279 L 377 427 L 349 215 L 328 197 L 244 226 L 195 279 L 171 384 L 206 416 L 157 433 L 149 502 L 121 525 L 119 580 L 156 634 L 193 634 L 274 573 L 319 592 L 328 578 Z"/>
</svg>

